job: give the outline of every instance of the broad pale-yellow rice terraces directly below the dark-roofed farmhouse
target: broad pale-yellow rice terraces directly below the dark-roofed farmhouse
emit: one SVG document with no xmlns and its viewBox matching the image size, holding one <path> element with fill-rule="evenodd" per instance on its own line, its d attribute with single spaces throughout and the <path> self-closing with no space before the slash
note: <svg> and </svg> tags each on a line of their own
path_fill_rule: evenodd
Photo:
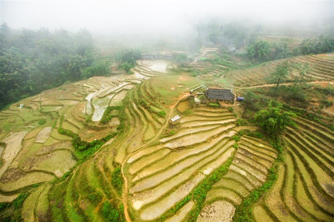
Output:
<svg viewBox="0 0 334 222">
<path fill-rule="evenodd" d="M 194 114 L 197 112 L 201 113 L 200 109 L 194 110 Z M 224 113 L 217 114 L 217 118 L 226 119 Z M 228 125 L 212 120 L 210 113 L 196 121 L 186 119 L 178 133 L 160 139 L 160 145 L 147 146 L 129 155 L 124 167 L 129 173 L 129 201 L 134 214 L 141 220 L 159 217 L 232 155 L 230 137 L 236 133 L 232 130 L 235 119 L 232 115 L 228 117 L 231 120 Z M 215 127 L 202 128 L 198 124 L 189 127 L 188 122 L 206 122 Z M 190 207 L 187 208 L 189 211 Z M 184 210 L 180 214 L 185 214 Z"/>
</svg>

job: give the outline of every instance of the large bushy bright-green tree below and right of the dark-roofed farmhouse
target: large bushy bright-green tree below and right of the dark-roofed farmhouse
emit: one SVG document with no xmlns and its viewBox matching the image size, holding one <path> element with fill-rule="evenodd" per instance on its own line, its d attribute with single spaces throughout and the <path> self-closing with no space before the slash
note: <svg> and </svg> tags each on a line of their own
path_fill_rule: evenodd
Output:
<svg viewBox="0 0 334 222">
<path fill-rule="evenodd" d="M 254 120 L 268 135 L 281 133 L 286 126 L 297 128 L 296 123 L 291 119 L 297 117 L 292 112 L 281 112 L 282 104 L 270 100 L 267 109 L 260 110 L 254 116 Z"/>
</svg>

